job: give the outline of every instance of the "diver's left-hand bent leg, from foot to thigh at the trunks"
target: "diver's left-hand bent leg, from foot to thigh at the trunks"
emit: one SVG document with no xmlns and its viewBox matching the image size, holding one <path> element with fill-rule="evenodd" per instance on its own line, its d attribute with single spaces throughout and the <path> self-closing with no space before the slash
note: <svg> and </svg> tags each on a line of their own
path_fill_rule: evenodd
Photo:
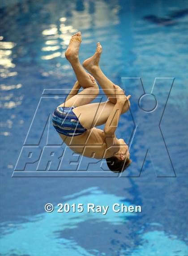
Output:
<svg viewBox="0 0 188 256">
<path fill-rule="evenodd" d="M 68 49 L 65 52 L 65 57 L 71 63 L 77 77 L 77 81 L 84 90 L 81 91 L 81 93 L 73 96 L 71 99 L 68 99 L 68 101 L 64 103 L 66 107 L 88 104 L 98 95 L 99 92 L 97 83 L 91 80 L 90 76 L 88 76 L 88 74 L 85 72 L 85 69 L 81 66 L 79 61 L 78 52 L 80 44 L 81 33 L 77 32 L 70 40 Z"/>
</svg>

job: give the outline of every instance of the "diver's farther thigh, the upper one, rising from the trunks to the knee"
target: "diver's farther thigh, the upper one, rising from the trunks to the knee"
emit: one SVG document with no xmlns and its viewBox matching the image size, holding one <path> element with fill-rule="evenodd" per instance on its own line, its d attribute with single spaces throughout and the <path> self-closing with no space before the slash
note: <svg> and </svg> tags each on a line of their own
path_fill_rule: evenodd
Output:
<svg viewBox="0 0 188 256">
<path fill-rule="evenodd" d="M 98 95 L 97 88 L 93 88 L 93 87 L 85 88 L 77 95 L 74 95 L 72 98 L 65 101 L 65 103 L 62 103 L 60 106 L 80 107 L 82 105 L 89 104 L 92 100 L 94 100 L 97 97 L 97 95 Z"/>
</svg>

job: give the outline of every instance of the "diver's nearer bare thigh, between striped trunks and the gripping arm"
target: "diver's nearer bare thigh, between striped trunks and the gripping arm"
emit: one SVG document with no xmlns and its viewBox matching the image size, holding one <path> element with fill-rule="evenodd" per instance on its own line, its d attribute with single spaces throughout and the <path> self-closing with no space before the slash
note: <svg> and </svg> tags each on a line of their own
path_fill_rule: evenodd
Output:
<svg viewBox="0 0 188 256">
<path fill-rule="evenodd" d="M 95 126 L 100 126 L 106 123 L 111 111 L 114 108 L 114 103 L 110 101 L 102 103 L 90 103 L 73 109 L 73 112 L 78 117 L 82 126 L 86 129 L 91 129 Z M 122 113 L 128 111 L 123 109 Z"/>
</svg>

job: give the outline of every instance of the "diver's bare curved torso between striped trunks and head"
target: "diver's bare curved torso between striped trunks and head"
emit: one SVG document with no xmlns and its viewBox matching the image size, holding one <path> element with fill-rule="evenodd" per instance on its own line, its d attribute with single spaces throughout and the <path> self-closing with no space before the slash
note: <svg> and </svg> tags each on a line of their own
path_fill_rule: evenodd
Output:
<svg viewBox="0 0 188 256">
<path fill-rule="evenodd" d="M 94 127 L 82 135 L 68 137 L 60 134 L 60 137 L 71 150 L 85 157 L 102 159 L 113 155 L 107 150 L 104 132 L 101 129 Z"/>
</svg>

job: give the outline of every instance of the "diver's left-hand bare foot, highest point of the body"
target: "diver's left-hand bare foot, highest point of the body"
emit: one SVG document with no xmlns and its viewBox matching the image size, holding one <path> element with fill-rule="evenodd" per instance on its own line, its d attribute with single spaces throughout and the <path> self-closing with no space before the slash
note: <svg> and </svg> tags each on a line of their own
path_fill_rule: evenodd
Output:
<svg viewBox="0 0 188 256">
<path fill-rule="evenodd" d="M 71 37 L 65 57 L 70 61 L 78 58 L 79 47 L 81 44 L 81 32 L 77 32 Z"/>
</svg>

